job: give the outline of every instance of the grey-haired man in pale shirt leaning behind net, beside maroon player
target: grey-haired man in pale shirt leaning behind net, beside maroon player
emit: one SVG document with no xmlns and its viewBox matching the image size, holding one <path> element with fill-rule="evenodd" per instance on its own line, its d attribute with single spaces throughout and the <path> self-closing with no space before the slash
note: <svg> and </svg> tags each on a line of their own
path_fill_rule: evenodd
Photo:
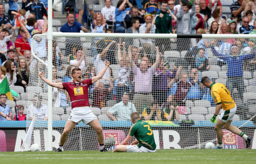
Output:
<svg viewBox="0 0 256 164">
<path fill-rule="evenodd" d="M 113 121 L 130 121 L 133 112 L 137 112 L 136 108 L 132 102 L 129 102 L 129 94 L 124 92 L 122 101 L 110 108 L 107 115 Z"/>
</svg>

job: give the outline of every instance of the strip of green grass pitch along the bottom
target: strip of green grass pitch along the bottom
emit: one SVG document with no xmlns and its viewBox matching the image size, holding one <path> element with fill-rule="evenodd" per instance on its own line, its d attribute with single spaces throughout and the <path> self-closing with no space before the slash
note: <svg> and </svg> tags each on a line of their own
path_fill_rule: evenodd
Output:
<svg viewBox="0 0 256 164">
<path fill-rule="evenodd" d="M 156 153 L 0 152 L 0 159 L 1 164 L 254 164 L 256 149 L 160 149 Z"/>
</svg>

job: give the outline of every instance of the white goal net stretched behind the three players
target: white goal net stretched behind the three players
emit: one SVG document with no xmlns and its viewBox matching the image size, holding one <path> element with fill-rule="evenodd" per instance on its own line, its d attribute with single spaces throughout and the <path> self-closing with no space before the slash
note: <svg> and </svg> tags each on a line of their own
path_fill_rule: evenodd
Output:
<svg viewBox="0 0 256 164">
<path fill-rule="evenodd" d="M 105 60 L 111 63 L 109 69 L 100 81 L 89 87 L 88 97 L 90 109 L 103 128 L 104 139 L 115 138 L 115 146 L 128 134 L 133 111 L 139 112 L 142 120 L 152 126 L 157 149 L 204 148 L 207 142 L 216 144 L 215 124 L 210 122 L 215 102 L 210 89 L 200 83 L 203 76 L 226 85 L 237 105 L 232 124 L 253 137 L 254 39 L 115 36 L 54 37 L 52 65 L 47 62 L 46 35 L 33 37 L 28 100 L 35 107 L 45 106 L 45 109 L 35 112 L 32 144 L 40 144 L 41 150 L 47 150 L 48 88 L 39 72 L 43 71 L 48 78 L 48 68 L 52 67 L 54 82 L 70 82 L 71 70 L 81 68 L 82 79 L 89 79 L 98 74 Z M 52 147 L 56 150 L 72 109 L 65 90 L 53 88 L 52 102 Z M 33 113 L 28 109 L 27 118 Z M 29 127 L 30 122 L 27 124 Z M 227 130 L 223 134 L 224 148 L 245 148 L 241 137 Z M 96 131 L 80 122 L 68 135 L 63 148 L 98 150 Z"/>
</svg>

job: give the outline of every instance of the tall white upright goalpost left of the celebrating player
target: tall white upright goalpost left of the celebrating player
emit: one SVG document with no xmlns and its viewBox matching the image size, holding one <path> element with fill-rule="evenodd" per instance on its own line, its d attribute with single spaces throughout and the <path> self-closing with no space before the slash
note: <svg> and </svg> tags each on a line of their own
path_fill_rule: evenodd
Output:
<svg viewBox="0 0 256 164">
<path fill-rule="evenodd" d="M 52 0 L 48 0 L 48 79 L 52 81 Z M 52 87 L 48 85 L 48 150 L 52 151 Z"/>
</svg>

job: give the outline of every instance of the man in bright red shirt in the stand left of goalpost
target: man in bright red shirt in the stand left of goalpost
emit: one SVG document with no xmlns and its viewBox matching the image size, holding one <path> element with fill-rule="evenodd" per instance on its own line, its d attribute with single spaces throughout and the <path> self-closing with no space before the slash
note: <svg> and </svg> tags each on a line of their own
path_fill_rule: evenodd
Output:
<svg viewBox="0 0 256 164">
<path fill-rule="evenodd" d="M 21 35 L 22 37 L 20 39 L 17 39 L 17 41 L 15 42 L 15 48 L 19 56 L 24 56 L 24 51 L 31 50 L 31 48 L 28 42 L 26 32 L 23 29 L 21 31 Z"/>
</svg>

